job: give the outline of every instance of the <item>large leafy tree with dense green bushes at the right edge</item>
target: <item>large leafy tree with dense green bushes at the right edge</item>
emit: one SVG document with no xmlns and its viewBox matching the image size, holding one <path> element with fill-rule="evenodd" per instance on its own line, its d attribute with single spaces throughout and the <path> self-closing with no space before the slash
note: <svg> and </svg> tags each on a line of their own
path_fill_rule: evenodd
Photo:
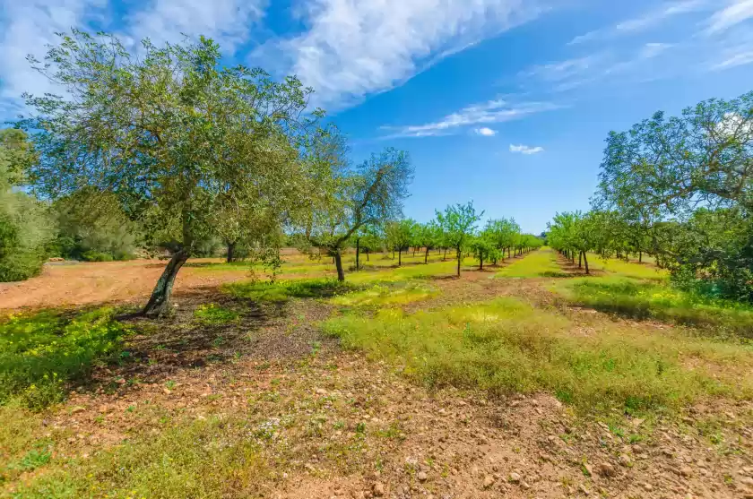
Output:
<svg viewBox="0 0 753 499">
<path fill-rule="evenodd" d="M 753 303 L 753 92 L 610 133 L 592 205 L 558 214 L 550 245 L 652 254 L 676 285 Z"/>
</svg>

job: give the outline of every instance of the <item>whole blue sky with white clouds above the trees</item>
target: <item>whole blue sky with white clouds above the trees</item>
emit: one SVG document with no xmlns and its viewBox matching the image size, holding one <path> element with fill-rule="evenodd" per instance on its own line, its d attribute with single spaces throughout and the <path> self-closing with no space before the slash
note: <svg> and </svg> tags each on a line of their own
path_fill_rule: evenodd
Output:
<svg viewBox="0 0 753 499">
<path fill-rule="evenodd" d="M 351 137 L 416 169 L 407 216 L 473 200 L 540 232 L 588 208 L 603 141 L 662 109 L 753 90 L 753 0 L 0 0 L 0 119 L 50 90 L 54 33 L 182 33 L 295 73 Z"/>
</svg>

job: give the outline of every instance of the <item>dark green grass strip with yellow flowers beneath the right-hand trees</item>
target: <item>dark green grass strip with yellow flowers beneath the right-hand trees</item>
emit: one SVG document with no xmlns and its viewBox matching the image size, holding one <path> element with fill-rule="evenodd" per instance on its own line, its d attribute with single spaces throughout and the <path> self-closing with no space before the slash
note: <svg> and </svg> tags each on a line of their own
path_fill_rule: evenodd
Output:
<svg viewBox="0 0 753 499">
<path fill-rule="evenodd" d="M 558 286 L 568 299 L 602 312 L 686 324 L 753 338 L 753 307 L 669 285 L 620 278 L 576 279 Z"/>
</svg>

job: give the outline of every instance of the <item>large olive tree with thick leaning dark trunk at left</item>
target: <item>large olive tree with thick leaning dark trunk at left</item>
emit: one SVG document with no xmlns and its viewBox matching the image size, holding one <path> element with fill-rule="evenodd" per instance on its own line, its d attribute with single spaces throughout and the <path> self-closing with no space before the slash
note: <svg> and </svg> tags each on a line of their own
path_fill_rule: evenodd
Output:
<svg viewBox="0 0 753 499">
<path fill-rule="evenodd" d="M 78 30 L 32 64 L 65 91 L 26 96 L 34 114 L 21 125 L 40 154 L 30 169 L 38 191 L 117 194 L 144 227 L 177 242 L 144 314 L 167 310 L 177 271 L 197 241 L 216 235 L 218 212 L 284 213 L 307 192 L 299 151 L 320 112 L 302 119 L 312 90 L 295 78 L 225 67 L 210 39 L 147 39 L 134 55 L 113 36 Z"/>
</svg>

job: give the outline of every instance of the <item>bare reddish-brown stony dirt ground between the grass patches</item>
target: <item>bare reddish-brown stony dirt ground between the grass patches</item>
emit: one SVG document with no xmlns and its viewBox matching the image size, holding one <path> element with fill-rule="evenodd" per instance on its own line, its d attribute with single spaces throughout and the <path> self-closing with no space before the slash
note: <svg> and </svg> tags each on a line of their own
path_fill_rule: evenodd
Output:
<svg viewBox="0 0 753 499">
<path fill-rule="evenodd" d="M 39 278 L 3 288 L 0 299 L 4 308 L 140 300 L 162 265 L 49 265 Z M 558 303 L 542 286 L 546 280 L 490 276 L 477 271 L 434 280 L 442 292 L 420 307 L 511 295 L 560 308 L 579 331 L 616 320 Z M 129 340 L 130 354 L 142 362 L 98 368 L 91 384 L 39 427 L 63 443 L 56 453 L 85 459 L 137 435 L 158 435 L 164 417 L 252 417 L 271 428 L 264 448 L 281 463 L 254 496 L 753 499 L 749 401 L 688 408 L 679 418 L 651 422 L 628 418 L 615 427 L 576 417 L 546 394 L 492 399 L 428 391 L 395 366 L 342 351 L 323 337 L 313 324 L 332 309 L 312 300 L 249 305 L 241 323 L 221 328 L 189 326 L 203 301 L 197 290 L 244 277 L 182 271 L 179 313 Z M 709 421 L 723 447 L 709 443 L 703 430 Z"/>
</svg>

